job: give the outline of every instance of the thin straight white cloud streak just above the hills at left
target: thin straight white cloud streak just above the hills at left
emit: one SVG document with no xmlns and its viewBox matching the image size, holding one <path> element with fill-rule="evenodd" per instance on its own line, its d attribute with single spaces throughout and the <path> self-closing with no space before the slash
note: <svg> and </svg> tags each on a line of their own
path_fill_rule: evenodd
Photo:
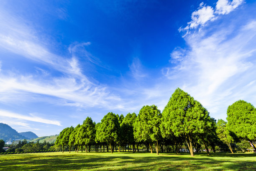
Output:
<svg viewBox="0 0 256 171">
<path fill-rule="evenodd" d="M 29 116 L 28 116 L 28 115 L 21 115 L 21 114 L 18 114 L 18 113 L 9 112 L 9 111 L 5 111 L 5 110 L 0 110 L 0 116 L 61 126 L 60 122 L 57 121 L 57 120 L 44 119 L 44 118 L 41 118 L 41 117 L 37 117 L 34 114 L 29 114 Z M 26 126 L 26 125 L 27 124 L 23 124 L 23 126 Z"/>
</svg>

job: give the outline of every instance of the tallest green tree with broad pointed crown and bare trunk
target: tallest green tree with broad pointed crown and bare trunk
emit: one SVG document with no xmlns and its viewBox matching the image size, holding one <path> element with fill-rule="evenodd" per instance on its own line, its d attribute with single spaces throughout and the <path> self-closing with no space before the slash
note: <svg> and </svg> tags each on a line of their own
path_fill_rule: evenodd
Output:
<svg viewBox="0 0 256 171">
<path fill-rule="evenodd" d="M 211 126 L 207 110 L 187 92 L 177 88 L 163 111 L 166 133 L 184 136 L 191 156 L 194 156 L 192 140 L 205 133 Z"/>
</svg>

